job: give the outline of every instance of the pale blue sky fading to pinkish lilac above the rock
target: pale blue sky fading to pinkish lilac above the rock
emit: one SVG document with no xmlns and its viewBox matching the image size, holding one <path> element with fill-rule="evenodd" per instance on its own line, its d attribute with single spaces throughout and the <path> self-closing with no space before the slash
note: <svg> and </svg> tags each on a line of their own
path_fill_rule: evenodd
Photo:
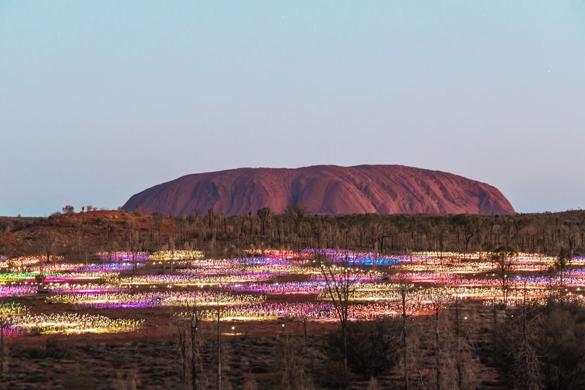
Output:
<svg viewBox="0 0 585 390">
<path fill-rule="evenodd" d="M 585 208 L 584 1 L 0 0 L 0 215 L 402 164 Z"/>
</svg>

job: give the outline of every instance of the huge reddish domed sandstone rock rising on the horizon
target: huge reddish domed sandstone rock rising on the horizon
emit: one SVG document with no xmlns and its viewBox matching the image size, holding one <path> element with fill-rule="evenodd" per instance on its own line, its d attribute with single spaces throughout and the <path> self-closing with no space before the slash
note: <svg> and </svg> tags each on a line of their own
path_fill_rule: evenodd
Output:
<svg viewBox="0 0 585 390">
<path fill-rule="evenodd" d="M 145 213 L 166 215 L 246 214 L 288 205 L 310 212 L 352 213 L 514 213 L 491 185 L 462 176 L 403 165 L 315 165 L 303 168 L 239 168 L 192 174 L 145 189 L 126 202 Z"/>
</svg>

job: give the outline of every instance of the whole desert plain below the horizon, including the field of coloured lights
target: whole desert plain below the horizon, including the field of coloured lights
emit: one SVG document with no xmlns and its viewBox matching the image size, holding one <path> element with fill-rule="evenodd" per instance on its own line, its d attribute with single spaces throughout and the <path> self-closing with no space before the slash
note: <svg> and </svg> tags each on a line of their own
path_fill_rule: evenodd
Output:
<svg viewBox="0 0 585 390">
<path fill-rule="evenodd" d="M 585 329 L 584 219 L 300 206 L 2 219 L 0 383 L 504 389 L 539 334 L 535 372 L 540 348 L 566 348 L 547 364 L 576 383 L 580 343 L 559 343 Z"/>
</svg>

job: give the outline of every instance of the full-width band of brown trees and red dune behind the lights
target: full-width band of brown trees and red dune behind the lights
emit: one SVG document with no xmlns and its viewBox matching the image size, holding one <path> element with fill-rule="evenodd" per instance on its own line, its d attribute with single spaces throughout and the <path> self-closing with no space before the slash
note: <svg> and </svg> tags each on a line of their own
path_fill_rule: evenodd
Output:
<svg viewBox="0 0 585 390">
<path fill-rule="evenodd" d="M 98 218 L 78 218 L 91 213 Z M 4 233 L 18 230 L 24 236 L 20 240 L 23 248 L 18 250 L 29 252 L 34 251 L 32 243 L 43 227 L 57 228 L 52 230 L 59 236 L 57 241 L 61 244 L 57 247 L 64 254 L 201 249 L 208 256 L 235 257 L 242 249 L 250 248 L 334 248 L 408 254 L 472 253 L 498 247 L 553 255 L 565 248 L 575 255 L 585 254 L 583 210 L 516 215 L 318 215 L 302 206 L 290 206 L 282 213 L 262 208 L 235 216 L 218 214 L 213 209 L 188 216 L 142 215 L 139 209 L 122 212 L 119 218 L 95 213 L 91 209 L 73 213 L 64 208 L 63 213 L 49 218 L 2 219 L 0 227 Z"/>
</svg>

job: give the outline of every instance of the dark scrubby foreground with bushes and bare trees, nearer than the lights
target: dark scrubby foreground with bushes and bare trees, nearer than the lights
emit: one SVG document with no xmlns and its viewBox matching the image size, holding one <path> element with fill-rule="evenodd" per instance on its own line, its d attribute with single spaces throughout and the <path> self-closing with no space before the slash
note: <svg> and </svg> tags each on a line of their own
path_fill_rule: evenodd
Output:
<svg viewBox="0 0 585 390">
<path fill-rule="evenodd" d="M 494 322 L 495 321 L 495 322 Z M 494 332 L 495 326 L 495 332 Z M 316 336 L 222 336 L 207 323 L 194 344 L 164 339 L 95 343 L 51 336 L 3 350 L 0 389 L 582 389 L 585 309 L 438 308 L 434 316 L 355 322 Z M 222 332 L 227 329 L 221 329 Z M 218 360 L 219 356 L 219 360 Z M 218 382 L 219 381 L 219 382 Z"/>
</svg>

